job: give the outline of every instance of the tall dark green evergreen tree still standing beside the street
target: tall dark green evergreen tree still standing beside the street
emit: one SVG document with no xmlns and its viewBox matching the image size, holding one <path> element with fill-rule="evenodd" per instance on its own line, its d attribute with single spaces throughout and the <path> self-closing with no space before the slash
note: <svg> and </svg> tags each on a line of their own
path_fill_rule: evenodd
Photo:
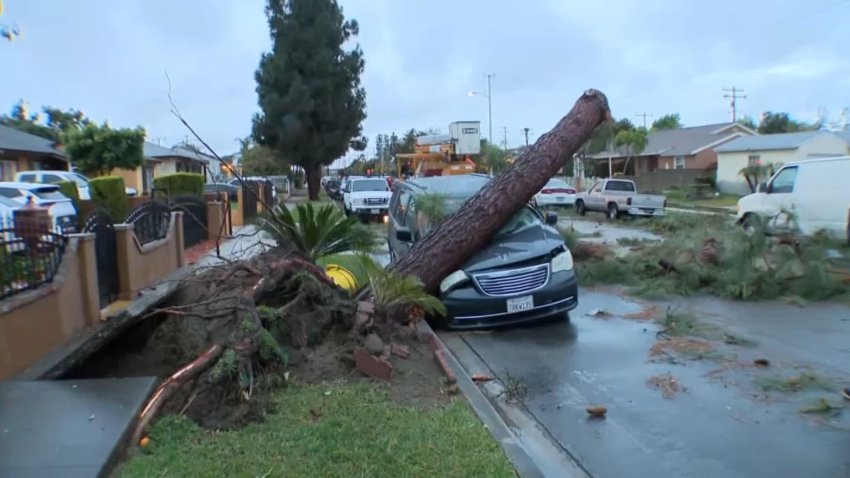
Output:
<svg viewBox="0 0 850 478">
<path fill-rule="evenodd" d="M 359 27 L 336 0 L 268 0 L 266 16 L 272 51 L 255 75 L 261 113 L 253 137 L 303 167 L 317 199 L 322 166 L 366 148 L 365 61 L 359 46 L 346 48 Z"/>
</svg>

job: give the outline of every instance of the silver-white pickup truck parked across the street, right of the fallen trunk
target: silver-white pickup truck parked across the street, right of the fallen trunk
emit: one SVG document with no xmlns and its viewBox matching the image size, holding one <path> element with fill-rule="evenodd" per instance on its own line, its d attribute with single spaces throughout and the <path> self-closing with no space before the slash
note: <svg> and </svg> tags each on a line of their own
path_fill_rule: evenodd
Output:
<svg viewBox="0 0 850 478">
<path fill-rule="evenodd" d="M 590 189 L 576 195 L 576 212 L 604 212 L 609 219 L 621 215 L 663 216 L 667 198 L 653 194 L 637 194 L 635 182 L 628 179 L 602 179 Z"/>
</svg>

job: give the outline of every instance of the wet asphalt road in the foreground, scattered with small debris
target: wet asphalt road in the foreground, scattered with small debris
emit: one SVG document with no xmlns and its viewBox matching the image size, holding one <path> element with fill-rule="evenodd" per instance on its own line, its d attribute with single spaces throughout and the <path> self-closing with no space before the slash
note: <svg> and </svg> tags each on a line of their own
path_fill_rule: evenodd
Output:
<svg viewBox="0 0 850 478">
<path fill-rule="evenodd" d="M 646 304 L 588 290 L 570 323 L 441 335 L 455 352 L 470 347 L 503 383 L 523 383 L 517 408 L 591 476 L 850 477 L 850 402 L 838 393 L 850 385 L 850 308 L 673 302 L 756 344 L 721 340 L 709 358 L 650 360 L 657 326 L 622 318 Z M 658 304 L 662 314 L 666 305 Z M 587 315 L 597 308 L 611 316 Z M 753 365 L 762 357 L 769 367 Z M 804 371 L 830 390 L 765 392 L 757 382 Z M 667 373 L 683 387 L 671 398 L 647 384 Z M 800 412 L 820 397 L 845 408 Z M 597 404 L 607 417 L 589 419 L 586 407 Z"/>
</svg>

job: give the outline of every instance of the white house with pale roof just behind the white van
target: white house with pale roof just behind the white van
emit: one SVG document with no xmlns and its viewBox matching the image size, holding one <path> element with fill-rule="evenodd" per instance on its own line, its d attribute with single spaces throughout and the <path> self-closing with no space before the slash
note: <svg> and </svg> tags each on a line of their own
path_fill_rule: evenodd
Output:
<svg viewBox="0 0 850 478">
<path fill-rule="evenodd" d="M 848 142 L 830 131 L 801 131 L 742 137 L 715 151 L 717 189 L 729 194 L 749 194 L 746 180 L 739 174 L 745 167 L 844 156 L 848 153 Z"/>
</svg>

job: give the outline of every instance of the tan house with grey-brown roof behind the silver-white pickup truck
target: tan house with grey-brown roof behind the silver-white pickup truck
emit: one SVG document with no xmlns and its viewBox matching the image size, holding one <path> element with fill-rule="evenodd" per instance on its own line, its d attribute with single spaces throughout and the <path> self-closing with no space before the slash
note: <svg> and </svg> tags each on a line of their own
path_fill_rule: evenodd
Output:
<svg viewBox="0 0 850 478">
<path fill-rule="evenodd" d="M 738 123 L 718 123 L 671 130 L 651 131 L 643 152 L 632 155 L 626 165 L 624 147 L 591 155 L 596 161 L 596 176 L 608 175 L 608 159 L 613 172 L 640 177 L 658 170 L 714 169 L 717 164 L 715 148 L 744 136 L 757 134 Z M 604 161 L 603 161 L 604 160 Z"/>
</svg>

